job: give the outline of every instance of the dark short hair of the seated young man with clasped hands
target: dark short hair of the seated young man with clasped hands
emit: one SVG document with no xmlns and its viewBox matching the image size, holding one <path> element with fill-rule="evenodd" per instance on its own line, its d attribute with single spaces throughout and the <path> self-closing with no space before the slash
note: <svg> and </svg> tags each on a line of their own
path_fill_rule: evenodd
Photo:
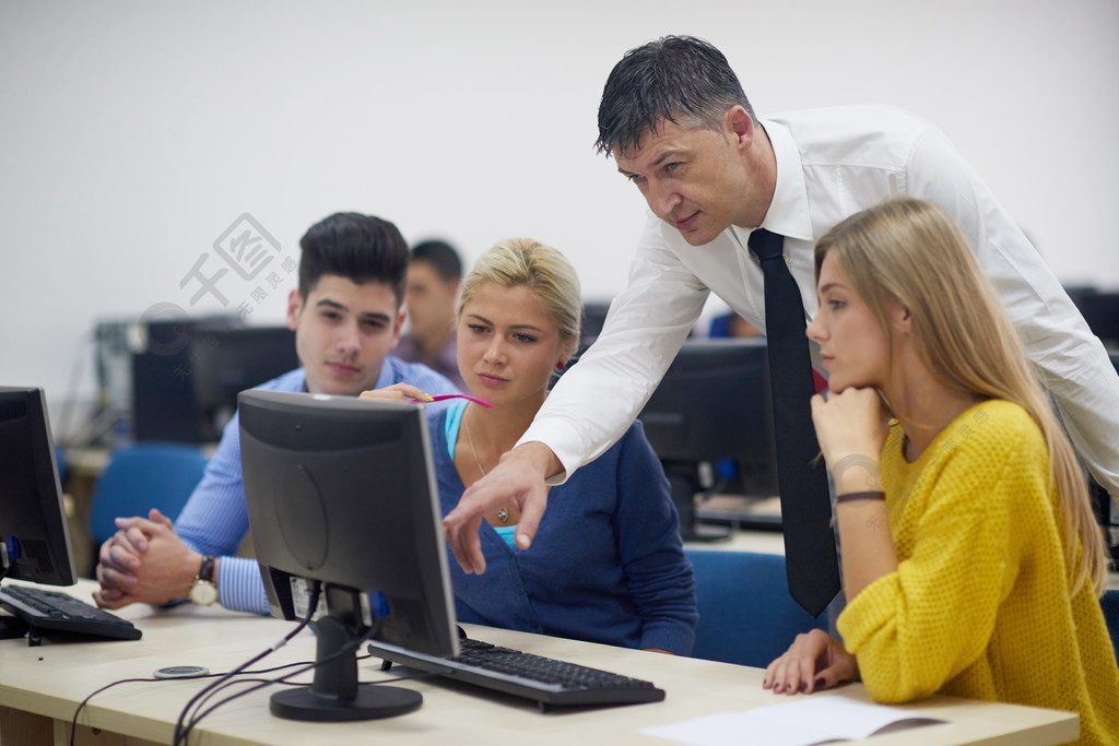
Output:
<svg viewBox="0 0 1119 746">
<path fill-rule="evenodd" d="M 408 245 L 396 226 L 372 215 L 335 213 L 308 228 L 299 240 L 299 294 L 303 300 L 325 274 L 361 285 L 379 282 L 404 302 Z"/>
</svg>

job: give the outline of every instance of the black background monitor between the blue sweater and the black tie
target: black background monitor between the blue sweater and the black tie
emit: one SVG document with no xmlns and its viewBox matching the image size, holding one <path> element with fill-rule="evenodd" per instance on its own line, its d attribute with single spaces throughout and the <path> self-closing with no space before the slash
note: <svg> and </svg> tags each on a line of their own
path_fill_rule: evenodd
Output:
<svg viewBox="0 0 1119 746">
<path fill-rule="evenodd" d="M 763 339 L 685 341 L 639 417 L 665 466 L 685 539 L 717 538 L 717 531 L 695 526 L 694 498 L 704 489 L 778 494 Z M 731 484 L 718 485 L 725 462 L 736 474 Z"/>
</svg>

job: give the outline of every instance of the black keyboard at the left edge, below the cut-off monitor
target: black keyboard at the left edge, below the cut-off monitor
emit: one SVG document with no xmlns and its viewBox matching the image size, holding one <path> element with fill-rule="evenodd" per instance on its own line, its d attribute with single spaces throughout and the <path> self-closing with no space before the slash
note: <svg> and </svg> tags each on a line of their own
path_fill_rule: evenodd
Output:
<svg viewBox="0 0 1119 746">
<path fill-rule="evenodd" d="M 6 585 L 0 606 L 29 625 L 32 640 L 51 630 L 117 640 L 139 640 L 141 634 L 132 622 L 56 591 Z"/>
</svg>

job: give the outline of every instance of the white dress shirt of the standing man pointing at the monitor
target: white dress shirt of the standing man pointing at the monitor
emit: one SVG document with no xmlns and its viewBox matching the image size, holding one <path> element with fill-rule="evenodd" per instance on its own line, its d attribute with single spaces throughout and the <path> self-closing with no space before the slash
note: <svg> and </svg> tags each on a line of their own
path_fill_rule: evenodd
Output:
<svg viewBox="0 0 1119 746">
<path fill-rule="evenodd" d="M 929 123 L 885 106 L 790 112 L 762 120 L 777 155 L 777 186 L 762 226 L 786 236 L 784 255 L 817 311 L 812 248 L 845 217 L 909 195 L 947 209 L 1022 336 L 1092 474 L 1119 495 L 1119 376 L 1007 211 Z M 762 272 L 731 227 L 703 246 L 651 213 L 629 282 L 598 340 L 556 384 L 521 443 L 539 441 L 563 481 L 626 432 L 652 394 L 709 293 L 765 329 Z M 814 346 L 815 347 L 815 346 Z M 696 396 L 702 396 L 696 391 Z"/>
</svg>

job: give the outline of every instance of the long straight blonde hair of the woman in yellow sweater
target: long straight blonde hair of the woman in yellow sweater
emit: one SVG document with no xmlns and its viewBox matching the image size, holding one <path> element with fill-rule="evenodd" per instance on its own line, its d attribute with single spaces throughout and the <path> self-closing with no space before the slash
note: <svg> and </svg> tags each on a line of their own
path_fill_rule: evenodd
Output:
<svg viewBox="0 0 1119 746">
<path fill-rule="evenodd" d="M 1075 593 L 1107 579 L 1107 549 L 1084 474 L 1026 359 L 1017 331 L 951 218 L 931 202 L 899 198 L 848 217 L 816 244 L 816 276 L 833 256 L 890 339 L 886 301 L 909 309 L 921 360 L 948 387 L 1017 404 L 1042 431 L 1064 523 Z M 892 357 L 892 356 L 891 356 Z M 1083 547 L 1079 560 L 1076 547 Z"/>
</svg>

